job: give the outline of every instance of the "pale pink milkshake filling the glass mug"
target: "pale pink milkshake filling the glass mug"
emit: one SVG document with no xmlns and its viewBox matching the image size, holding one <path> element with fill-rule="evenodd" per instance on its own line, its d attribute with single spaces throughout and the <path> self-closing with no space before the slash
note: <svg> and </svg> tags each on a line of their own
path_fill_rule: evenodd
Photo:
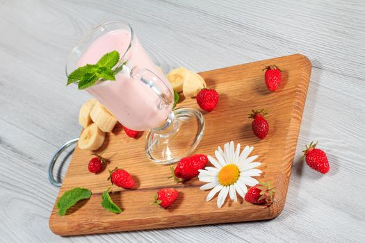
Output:
<svg viewBox="0 0 365 243">
<path fill-rule="evenodd" d="M 129 47 L 129 45 L 131 46 Z M 136 35 L 120 29 L 98 37 L 83 51 L 77 67 L 95 64 L 104 54 L 118 51 L 121 59 L 127 61 L 127 67 L 115 78 L 116 81 L 101 81 L 87 89 L 93 97 L 102 103 L 121 124 L 137 131 L 146 131 L 164 123 L 171 112 L 172 103 L 161 107 L 160 97 L 151 87 L 131 77 L 131 69 L 149 69 L 145 79 L 152 81 L 163 93 L 172 92 L 170 83 L 161 71 L 149 59 Z M 157 76 L 153 77 L 154 74 Z"/>
</svg>

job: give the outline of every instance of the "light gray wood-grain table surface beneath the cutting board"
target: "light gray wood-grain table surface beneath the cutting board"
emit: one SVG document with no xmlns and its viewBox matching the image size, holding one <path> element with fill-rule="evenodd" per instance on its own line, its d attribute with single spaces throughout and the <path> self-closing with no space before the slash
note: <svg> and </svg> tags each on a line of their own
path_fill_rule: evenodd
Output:
<svg viewBox="0 0 365 243">
<path fill-rule="evenodd" d="M 365 2 L 0 0 L 0 242 L 364 242 Z M 65 60 L 90 28 L 124 19 L 165 72 L 302 53 L 313 69 L 286 199 L 270 221 L 59 237 L 47 166 L 77 137 L 86 92 Z M 318 140 L 330 172 L 300 161 Z M 63 167 L 63 173 L 67 163 Z"/>
</svg>

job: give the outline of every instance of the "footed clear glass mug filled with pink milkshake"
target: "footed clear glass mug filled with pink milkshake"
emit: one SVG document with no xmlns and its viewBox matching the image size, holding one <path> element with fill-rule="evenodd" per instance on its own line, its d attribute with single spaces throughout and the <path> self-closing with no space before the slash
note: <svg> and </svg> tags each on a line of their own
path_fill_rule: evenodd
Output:
<svg viewBox="0 0 365 243">
<path fill-rule="evenodd" d="M 87 92 L 102 103 L 123 126 L 147 131 L 147 157 L 159 164 L 172 164 L 188 156 L 204 133 L 199 110 L 172 110 L 174 92 L 170 82 L 154 65 L 129 24 L 113 21 L 101 24 L 72 49 L 66 74 L 77 67 L 95 64 L 111 51 L 120 53 L 115 81 L 98 81 Z M 122 65 L 124 63 L 124 65 Z"/>
</svg>

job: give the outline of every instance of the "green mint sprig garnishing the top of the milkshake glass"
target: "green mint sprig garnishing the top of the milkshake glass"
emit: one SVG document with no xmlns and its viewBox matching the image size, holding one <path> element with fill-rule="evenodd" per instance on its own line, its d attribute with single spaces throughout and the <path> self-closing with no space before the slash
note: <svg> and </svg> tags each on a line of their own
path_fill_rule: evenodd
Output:
<svg viewBox="0 0 365 243">
<path fill-rule="evenodd" d="M 119 72 L 126 62 L 123 62 L 117 70 L 113 71 L 113 67 L 119 62 L 120 55 L 117 51 L 106 53 L 96 64 L 87 64 L 79 67 L 72 72 L 67 78 L 67 85 L 78 83 L 79 90 L 91 87 L 102 78 L 104 81 L 115 81 L 115 74 Z"/>
</svg>

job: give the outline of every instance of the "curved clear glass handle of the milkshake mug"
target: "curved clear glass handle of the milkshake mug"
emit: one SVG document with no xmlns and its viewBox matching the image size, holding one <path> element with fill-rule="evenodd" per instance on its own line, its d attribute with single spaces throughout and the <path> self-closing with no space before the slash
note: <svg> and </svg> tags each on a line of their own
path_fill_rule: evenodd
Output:
<svg viewBox="0 0 365 243">
<path fill-rule="evenodd" d="M 145 83 L 160 98 L 161 102 L 158 107 L 160 110 L 165 110 L 171 105 L 173 95 L 170 88 L 154 72 L 144 67 L 135 66 L 131 69 L 130 76 Z M 160 87 L 156 85 L 159 83 L 161 83 Z"/>
</svg>

